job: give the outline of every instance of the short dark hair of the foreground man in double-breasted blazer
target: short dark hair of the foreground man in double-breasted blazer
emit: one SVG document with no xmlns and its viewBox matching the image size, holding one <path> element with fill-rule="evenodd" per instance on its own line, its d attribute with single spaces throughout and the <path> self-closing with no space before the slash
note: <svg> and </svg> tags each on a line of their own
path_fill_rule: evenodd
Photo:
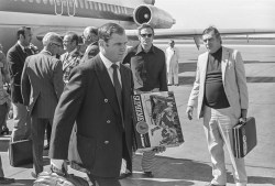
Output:
<svg viewBox="0 0 275 186">
<path fill-rule="evenodd" d="M 98 37 L 99 40 L 103 40 L 105 42 L 108 42 L 111 39 L 112 34 L 122 35 L 124 33 L 125 30 L 117 23 L 107 23 L 98 29 Z"/>
</svg>

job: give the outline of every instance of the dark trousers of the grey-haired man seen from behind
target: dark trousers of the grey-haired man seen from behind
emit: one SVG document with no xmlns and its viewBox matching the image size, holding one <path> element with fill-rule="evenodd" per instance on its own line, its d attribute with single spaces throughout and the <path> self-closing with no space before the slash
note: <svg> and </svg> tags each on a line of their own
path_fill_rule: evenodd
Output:
<svg viewBox="0 0 275 186">
<path fill-rule="evenodd" d="M 47 124 L 53 124 L 52 118 L 50 119 L 31 117 L 33 165 L 36 174 L 43 172 L 43 147 Z"/>
</svg>

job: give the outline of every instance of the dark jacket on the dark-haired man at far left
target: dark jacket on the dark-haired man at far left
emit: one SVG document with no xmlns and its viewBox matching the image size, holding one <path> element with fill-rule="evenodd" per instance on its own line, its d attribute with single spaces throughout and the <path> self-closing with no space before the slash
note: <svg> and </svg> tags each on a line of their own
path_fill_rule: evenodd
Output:
<svg viewBox="0 0 275 186">
<path fill-rule="evenodd" d="M 25 63 L 25 58 L 32 55 L 32 52 L 25 53 L 21 46 L 16 43 L 7 53 L 7 62 L 10 67 L 11 75 L 11 100 L 12 102 L 23 103 L 21 96 L 21 74 Z"/>
</svg>

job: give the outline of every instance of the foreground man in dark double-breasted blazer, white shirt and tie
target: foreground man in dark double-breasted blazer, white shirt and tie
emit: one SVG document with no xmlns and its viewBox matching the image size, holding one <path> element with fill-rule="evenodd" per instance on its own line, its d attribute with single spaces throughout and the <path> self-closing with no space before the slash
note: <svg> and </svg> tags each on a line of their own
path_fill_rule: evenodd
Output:
<svg viewBox="0 0 275 186">
<path fill-rule="evenodd" d="M 54 116 L 50 147 L 52 169 L 62 172 L 68 158 L 73 125 L 77 125 L 80 165 L 100 186 L 120 185 L 122 158 L 132 169 L 132 73 L 121 64 L 127 51 L 124 29 L 99 28 L 100 53 L 75 67 Z"/>
</svg>

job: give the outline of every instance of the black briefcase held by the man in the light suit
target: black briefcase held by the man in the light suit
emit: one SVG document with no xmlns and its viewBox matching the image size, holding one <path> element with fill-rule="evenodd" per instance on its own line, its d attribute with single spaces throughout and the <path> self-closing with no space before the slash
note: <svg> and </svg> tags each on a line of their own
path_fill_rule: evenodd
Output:
<svg viewBox="0 0 275 186">
<path fill-rule="evenodd" d="M 256 146 L 255 118 L 248 118 L 246 122 L 233 127 L 233 153 L 237 158 L 244 157 Z"/>
</svg>

